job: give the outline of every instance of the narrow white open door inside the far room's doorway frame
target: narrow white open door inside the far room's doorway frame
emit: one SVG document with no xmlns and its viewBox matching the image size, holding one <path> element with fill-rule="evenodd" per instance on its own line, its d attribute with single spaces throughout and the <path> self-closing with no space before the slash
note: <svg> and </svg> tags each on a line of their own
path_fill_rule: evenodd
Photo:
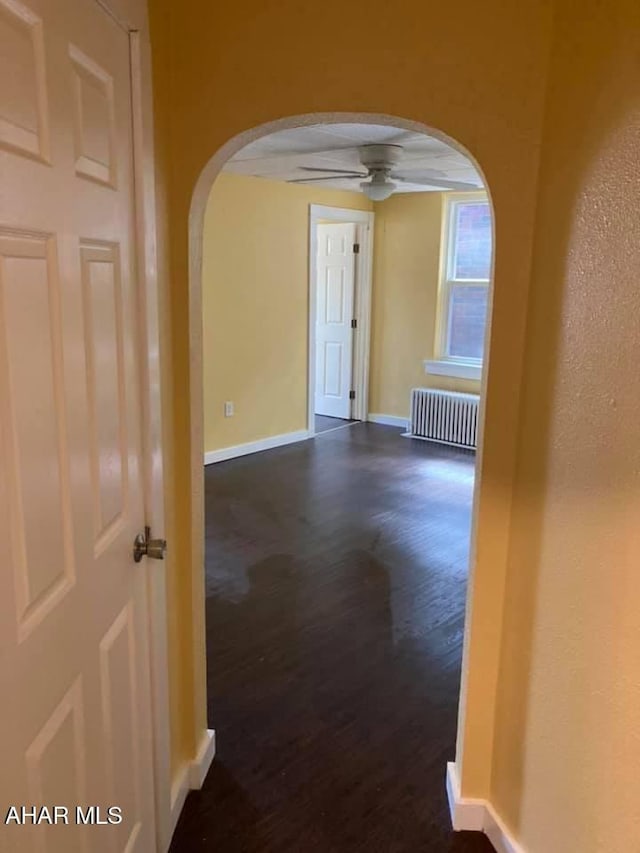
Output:
<svg viewBox="0 0 640 853">
<path fill-rule="evenodd" d="M 317 227 L 315 413 L 350 418 L 356 226 Z"/>
</svg>

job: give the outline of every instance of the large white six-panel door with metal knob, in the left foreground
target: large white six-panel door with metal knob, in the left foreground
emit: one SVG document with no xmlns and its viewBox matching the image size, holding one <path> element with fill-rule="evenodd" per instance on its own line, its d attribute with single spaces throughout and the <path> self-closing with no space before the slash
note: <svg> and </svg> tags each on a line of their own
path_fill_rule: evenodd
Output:
<svg viewBox="0 0 640 853">
<path fill-rule="evenodd" d="M 133 235 L 127 34 L 96 0 L 0 0 L 8 851 L 155 850 Z M 75 825 L 91 806 L 113 823 Z"/>
</svg>

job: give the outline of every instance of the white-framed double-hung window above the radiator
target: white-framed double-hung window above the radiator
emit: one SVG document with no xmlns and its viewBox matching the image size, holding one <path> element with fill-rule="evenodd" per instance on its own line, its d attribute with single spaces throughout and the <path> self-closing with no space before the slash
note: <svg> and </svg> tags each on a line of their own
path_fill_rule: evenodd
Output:
<svg viewBox="0 0 640 853">
<path fill-rule="evenodd" d="M 485 193 L 448 196 L 444 210 L 440 358 L 480 367 L 484 355 L 491 208 Z"/>
</svg>

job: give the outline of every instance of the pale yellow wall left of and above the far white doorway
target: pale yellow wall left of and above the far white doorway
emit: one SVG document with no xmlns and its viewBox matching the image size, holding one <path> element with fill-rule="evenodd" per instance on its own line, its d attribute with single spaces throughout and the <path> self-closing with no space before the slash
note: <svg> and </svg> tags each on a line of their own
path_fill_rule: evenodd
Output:
<svg viewBox="0 0 640 853">
<path fill-rule="evenodd" d="M 307 428 L 310 204 L 373 207 L 362 193 L 228 173 L 213 186 L 202 274 L 207 451 Z"/>
</svg>

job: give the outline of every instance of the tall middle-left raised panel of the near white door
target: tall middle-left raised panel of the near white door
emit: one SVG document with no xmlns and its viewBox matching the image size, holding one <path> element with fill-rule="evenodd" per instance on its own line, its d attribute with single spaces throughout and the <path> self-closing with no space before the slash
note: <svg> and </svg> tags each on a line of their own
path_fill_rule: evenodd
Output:
<svg viewBox="0 0 640 853">
<path fill-rule="evenodd" d="M 0 232 L 0 265 L 0 393 L 18 632 L 25 636 L 75 580 L 53 240 Z M 27 326 L 32 334 L 25 336 Z"/>
</svg>

